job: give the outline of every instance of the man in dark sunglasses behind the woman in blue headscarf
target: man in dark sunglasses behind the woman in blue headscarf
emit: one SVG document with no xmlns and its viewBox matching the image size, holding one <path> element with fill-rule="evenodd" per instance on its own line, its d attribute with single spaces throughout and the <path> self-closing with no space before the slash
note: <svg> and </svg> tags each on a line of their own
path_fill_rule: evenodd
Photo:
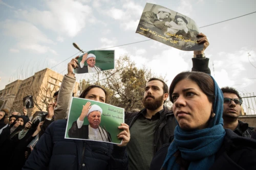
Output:
<svg viewBox="0 0 256 170">
<path fill-rule="evenodd" d="M 250 138 L 254 128 L 249 127 L 247 123 L 238 120 L 238 117 L 241 114 L 241 105 L 243 103 L 238 91 L 232 87 L 223 87 L 221 90 L 224 95 L 223 127 L 231 129 L 239 136 Z"/>
</svg>

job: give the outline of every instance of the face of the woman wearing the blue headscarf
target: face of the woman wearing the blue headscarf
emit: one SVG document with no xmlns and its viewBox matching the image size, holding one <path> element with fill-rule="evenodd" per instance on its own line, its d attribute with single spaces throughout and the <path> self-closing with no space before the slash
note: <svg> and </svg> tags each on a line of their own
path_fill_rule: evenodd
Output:
<svg viewBox="0 0 256 170">
<path fill-rule="evenodd" d="M 183 79 L 174 88 L 173 111 L 181 129 L 204 129 L 208 125 L 212 103 L 193 81 Z"/>
</svg>

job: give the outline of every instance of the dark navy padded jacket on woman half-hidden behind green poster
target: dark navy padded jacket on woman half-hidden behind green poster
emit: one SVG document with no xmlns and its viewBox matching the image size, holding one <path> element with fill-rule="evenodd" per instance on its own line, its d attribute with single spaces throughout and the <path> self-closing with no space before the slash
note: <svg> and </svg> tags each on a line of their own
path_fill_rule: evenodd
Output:
<svg viewBox="0 0 256 170">
<path fill-rule="evenodd" d="M 67 120 L 56 120 L 36 143 L 23 169 L 127 168 L 125 147 L 116 144 L 65 139 Z"/>
</svg>

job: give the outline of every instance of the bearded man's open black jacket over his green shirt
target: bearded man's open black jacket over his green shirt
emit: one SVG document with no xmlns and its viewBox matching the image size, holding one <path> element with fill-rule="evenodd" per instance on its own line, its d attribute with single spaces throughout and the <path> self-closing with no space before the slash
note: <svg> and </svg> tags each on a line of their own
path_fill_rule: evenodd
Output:
<svg viewBox="0 0 256 170">
<path fill-rule="evenodd" d="M 129 125 L 130 129 L 133 126 L 135 120 L 142 116 L 141 112 L 126 112 L 125 113 L 125 123 Z M 155 153 L 162 147 L 163 144 L 172 141 L 174 136 L 174 129 L 177 126 L 176 119 L 174 117 L 173 111 L 168 111 L 167 107 L 164 106 L 164 111 L 160 114 L 160 121 L 157 124 L 157 129 L 155 132 Z"/>
</svg>

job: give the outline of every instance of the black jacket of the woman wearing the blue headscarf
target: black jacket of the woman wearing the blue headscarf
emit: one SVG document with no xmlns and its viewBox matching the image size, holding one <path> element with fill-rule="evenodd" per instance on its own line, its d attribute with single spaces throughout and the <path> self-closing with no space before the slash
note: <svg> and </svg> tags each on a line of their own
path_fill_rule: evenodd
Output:
<svg viewBox="0 0 256 170">
<path fill-rule="evenodd" d="M 225 129 L 226 135 L 220 150 L 215 154 L 215 162 L 209 170 L 242 170 L 256 169 L 256 140 L 241 137 L 229 129 Z M 154 156 L 150 170 L 161 169 L 170 143 L 163 147 Z"/>
</svg>

